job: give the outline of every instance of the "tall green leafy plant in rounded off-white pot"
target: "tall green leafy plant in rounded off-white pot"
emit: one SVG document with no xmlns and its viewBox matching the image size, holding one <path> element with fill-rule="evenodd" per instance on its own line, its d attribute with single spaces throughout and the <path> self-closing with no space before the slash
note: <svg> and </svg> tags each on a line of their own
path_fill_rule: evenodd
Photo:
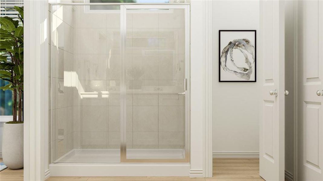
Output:
<svg viewBox="0 0 323 181">
<path fill-rule="evenodd" d="M 10 169 L 24 166 L 24 8 L 15 6 L 18 18 L 0 17 L 0 79 L 7 82 L 2 90 L 13 93 L 13 120 L 4 124 L 2 156 Z"/>
</svg>

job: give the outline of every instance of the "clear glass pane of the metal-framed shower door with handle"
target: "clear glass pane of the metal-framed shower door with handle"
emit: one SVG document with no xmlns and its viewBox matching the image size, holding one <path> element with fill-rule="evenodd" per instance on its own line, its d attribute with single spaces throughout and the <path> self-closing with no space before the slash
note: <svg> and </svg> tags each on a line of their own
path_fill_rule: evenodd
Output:
<svg viewBox="0 0 323 181">
<path fill-rule="evenodd" d="M 126 158 L 184 159 L 185 10 L 126 14 Z"/>
</svg>

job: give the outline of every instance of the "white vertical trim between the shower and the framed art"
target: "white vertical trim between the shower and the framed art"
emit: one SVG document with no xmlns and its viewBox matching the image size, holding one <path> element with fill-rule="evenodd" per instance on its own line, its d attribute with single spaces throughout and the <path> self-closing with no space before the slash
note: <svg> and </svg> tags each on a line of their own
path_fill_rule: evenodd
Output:
<svg viewBox="0 0 323 181">
<path fill-rule="evenodd" d="M 190 176 L 212 177 L 212 0 L 191 0 L 190 17 Z"/>
</svg>

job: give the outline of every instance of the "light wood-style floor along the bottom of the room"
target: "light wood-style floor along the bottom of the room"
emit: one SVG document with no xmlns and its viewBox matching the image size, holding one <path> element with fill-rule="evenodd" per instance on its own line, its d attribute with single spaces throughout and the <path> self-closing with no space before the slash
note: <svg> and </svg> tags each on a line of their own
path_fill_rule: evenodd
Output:
<svg viewBox="0 0 323 181">
<path fill-rule="evenodd" d="M 2 160 L 0 159 L 0 162 Z M 22 181 L 23 169 L 0 172 L 1 181 Z M 46 181 L 264 181 L 259 176 L 259 159 L 213 159 L 212 178 L 189 177 L 50 177 Z"/>
</svg>

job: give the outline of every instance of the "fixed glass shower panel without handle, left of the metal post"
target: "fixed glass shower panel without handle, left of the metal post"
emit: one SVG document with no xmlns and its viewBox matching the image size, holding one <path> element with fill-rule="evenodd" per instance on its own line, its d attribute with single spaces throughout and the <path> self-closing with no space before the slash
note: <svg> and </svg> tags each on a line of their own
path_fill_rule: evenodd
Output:
<svg viewBox="0 0 323 181">
<path fill-rule="evenodd" d="M 53 163 L 120 162 L 120 10 L 90 6 L 51 9 Z"/>
</svg>

